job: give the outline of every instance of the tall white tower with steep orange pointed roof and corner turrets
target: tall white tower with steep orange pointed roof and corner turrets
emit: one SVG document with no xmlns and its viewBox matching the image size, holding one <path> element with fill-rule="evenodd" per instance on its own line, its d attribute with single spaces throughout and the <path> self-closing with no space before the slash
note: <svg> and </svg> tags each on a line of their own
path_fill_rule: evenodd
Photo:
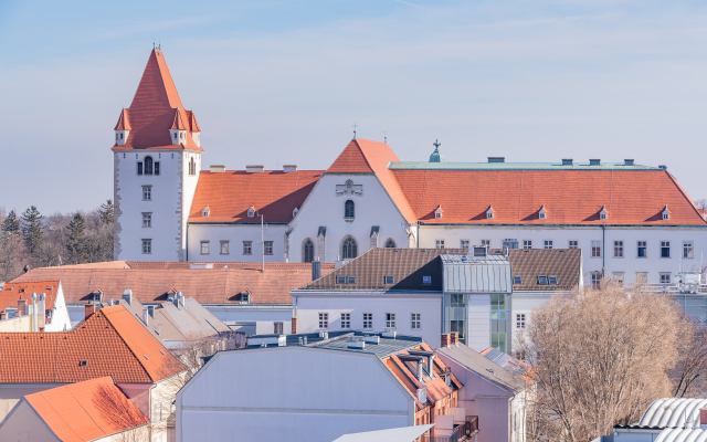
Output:
<svg viewBox="0 0 707 442">
<path fill-rule="evenodd" d="M 133 103 L 115 127 L 115 260 L 187 260 L 187 220 L 203 152 L 200 136 L 162 51 L 152 50 Z"/>
</svg>

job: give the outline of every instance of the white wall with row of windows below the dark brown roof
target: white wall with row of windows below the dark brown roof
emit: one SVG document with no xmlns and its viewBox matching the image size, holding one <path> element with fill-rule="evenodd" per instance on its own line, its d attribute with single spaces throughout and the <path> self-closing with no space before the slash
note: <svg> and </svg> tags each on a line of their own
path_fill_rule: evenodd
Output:
<svg viewBox="0 0 707 442">
<path fill-rule="evenodd" d="M 293 292 L 293 296 L 295 293 Z M 341 313 L 351 314 L 352 330 L 363 330 L 363 313 L 373 314 L 371 332 L 383 332 L 386 314 L 395 314 L 395 330 L 420 336 L 432 347 L 440 346 L 442 294 L 328 293 L 296 294 L 299 333 L 319 330 L 319 313 L 329 314 L 329 330 L 341 330 Z M 411 314 L 421 314 L 421 328 L 412 329 Z"/>
</svg>

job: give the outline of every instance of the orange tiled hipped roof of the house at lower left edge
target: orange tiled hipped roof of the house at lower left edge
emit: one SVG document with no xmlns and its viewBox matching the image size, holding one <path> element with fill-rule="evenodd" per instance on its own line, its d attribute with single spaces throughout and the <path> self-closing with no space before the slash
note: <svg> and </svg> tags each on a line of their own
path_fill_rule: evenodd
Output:
<svg viewBox="0 0 707 442">
<path fill-rule="evenodd" d="M 102 376 L 154 383 L 186 370 L 122 305 L 102 308 L 70 332 L 0 333 L 0 383 L 71 383 Z"/>
</svg>

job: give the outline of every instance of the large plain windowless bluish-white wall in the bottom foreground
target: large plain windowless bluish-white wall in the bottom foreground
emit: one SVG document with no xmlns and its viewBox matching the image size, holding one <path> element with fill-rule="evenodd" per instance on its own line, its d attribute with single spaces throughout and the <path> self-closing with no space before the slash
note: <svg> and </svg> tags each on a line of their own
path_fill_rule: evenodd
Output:
<svg viewBox="0 0 707 442">
<path fill-rule="evenodd" d="M 372 354 L 218 352 L 177 394 L 177 441 L 330 442 L 414 424 L 414 401 Z"/>
</svg>

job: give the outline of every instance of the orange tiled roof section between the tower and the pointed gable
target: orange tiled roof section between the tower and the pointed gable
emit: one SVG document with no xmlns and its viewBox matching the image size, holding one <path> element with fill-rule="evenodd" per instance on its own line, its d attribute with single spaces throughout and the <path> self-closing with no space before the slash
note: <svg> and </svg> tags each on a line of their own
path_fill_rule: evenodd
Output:
<svg viewBox="0 0 707 442">
<path fill-rule="evenodd" d="M 287 223 L 293 211 L 302 206 L 315 183 L 320 170 L 284 172 L 268 170 L 249 173 L 243 170 L 212 173 L 201 171 L 189 215 L 190 223 L 207 222 L 265 222 Z M 209 207 L 209 217 L 202 210 Z M 256 215 L 247 217 L 254 207 Z"/>
</svg>

